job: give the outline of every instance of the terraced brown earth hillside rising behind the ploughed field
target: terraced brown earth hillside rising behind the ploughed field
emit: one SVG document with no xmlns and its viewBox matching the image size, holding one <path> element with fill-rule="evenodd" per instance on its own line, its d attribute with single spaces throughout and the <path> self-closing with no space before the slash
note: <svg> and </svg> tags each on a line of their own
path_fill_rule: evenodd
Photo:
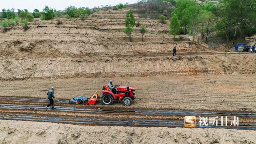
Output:
<svg viewBox="0 0 256 144">
<path fill-rule="evenodd" d="M 242 63 L 235 66 L 231 63 L 236 58 L 255 60 L 255 57 L 213 53 L 185 36 L 181 36 L 183 41 L 174 42 L 173 36 L 168 34 L 168 24 L 139 18 L 139 14 L 135 16 L 146 24 L 148 34 L 145 42 L 142 42 L 136 28 L 134 41 L 129 42 L 122 32 L 127 11 L 128 8 L 101 10 L 85 21 L 61 18 L 62 24 L 59 26 L 56 20 L 36 19 L 26 31 L 20 25 L 1 32 L 0 79 L 254 72 L 243 70 L 245 65 Z M 170 57 L 174 46 L 182 57 Z M 250 62 L 246 64 L 252 65 Z"/>
</svg>

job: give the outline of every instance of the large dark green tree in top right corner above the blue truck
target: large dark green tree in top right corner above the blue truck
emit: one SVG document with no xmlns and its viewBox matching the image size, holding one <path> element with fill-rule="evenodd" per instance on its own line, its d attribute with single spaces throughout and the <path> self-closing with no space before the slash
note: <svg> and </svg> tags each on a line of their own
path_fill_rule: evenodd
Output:
<svg viewBox="0 0 256 144">
<path fill-rule="evenodd" d="M 244 30 L 256 26 L 255 0 L 223 0 L 218 9 L 219 19 L 216 24 L 218 33 L 226 37 L 227 42 L 233 38 L 232 43 L 240 34 L 248 36 Z"/>
</svg>

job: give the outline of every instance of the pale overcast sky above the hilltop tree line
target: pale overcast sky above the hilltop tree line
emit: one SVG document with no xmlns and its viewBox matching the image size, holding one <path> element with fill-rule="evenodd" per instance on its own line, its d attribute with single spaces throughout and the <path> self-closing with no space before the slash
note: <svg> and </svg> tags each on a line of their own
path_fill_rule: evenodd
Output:
<svg viewBox="0 0 256 144">
<path fill-rule="evenodd" d="M 122 3 L 125 4 L 134 4 L 138 0 L 1 0 L 0 10 L 3 8 L 11 9 L 15 8 L 15 12 L 18 12 L 18 9 L 27 9 L 29 12 L 33 12 L 35 8 L 42 11 L 44 6 L 49 6 L 50 8 L 55 8 L 56 10 L 64 10 L 68 6 L 80 7 L 89 7 L 93 8 L 94 6 L 101 5 L 110 5 L 115 6 L 116 4 Z"/>
</svg>

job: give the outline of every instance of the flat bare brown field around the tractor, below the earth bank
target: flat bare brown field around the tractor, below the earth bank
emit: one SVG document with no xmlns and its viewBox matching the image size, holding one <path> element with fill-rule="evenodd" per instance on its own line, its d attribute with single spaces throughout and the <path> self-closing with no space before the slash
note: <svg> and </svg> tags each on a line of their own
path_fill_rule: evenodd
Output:
<svg viewBox="0 0 256 144">
<path fill-rule="evenodd" d="M 47 99 L 47 90 L 54 86 L 58 99 L 90 97 L 110 79 L 123 86 L 130 82 L 136 100 L 129 107 L 121 102 L 96 107 L 256 112 L 255 74 L 1 81 L 0 91 L 1 96 Z"/>
</svg>

